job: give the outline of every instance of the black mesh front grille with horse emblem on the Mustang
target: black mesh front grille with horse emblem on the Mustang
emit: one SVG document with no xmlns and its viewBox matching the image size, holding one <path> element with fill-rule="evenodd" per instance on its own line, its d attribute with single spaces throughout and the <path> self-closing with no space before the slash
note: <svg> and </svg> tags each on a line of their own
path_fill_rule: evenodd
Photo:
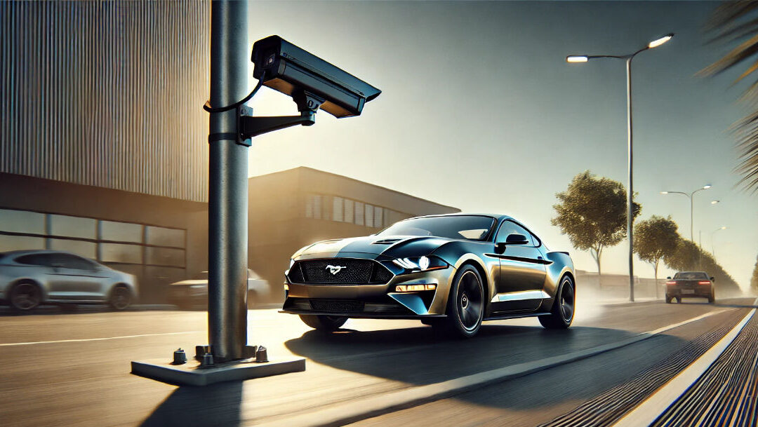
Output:
<svg viewBox="0 0 758 427">
<path fill-rule="evenodd" d="M 352 258 L 304 260 L 290 269 L 292 282 L 310 285 L 382 285 L 392 276 L 381 263 Z"/>
</svg>

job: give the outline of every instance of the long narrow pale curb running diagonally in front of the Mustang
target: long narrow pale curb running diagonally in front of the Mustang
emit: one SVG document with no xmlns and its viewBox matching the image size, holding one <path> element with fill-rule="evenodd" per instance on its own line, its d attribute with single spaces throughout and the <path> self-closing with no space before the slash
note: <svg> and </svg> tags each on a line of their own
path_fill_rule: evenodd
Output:
<svg viewBox="0 0 758 427">
<path fill-rule="evenodd" d="M 698 320 L 705 319 L 706 317 L 718 313 L 723 313 L 724 311 L 726 310 L 712 311 L 684 320 L 683 322 L 674 323 L 649 332 L 642 332 L 641 334 L 634 335 L 625 340 L 603 344 L 594 348 L 587 348 L 581 351 L 548 357 L 547 359 L 534 362 L 518 363 L 512 366 L 492 369 L 486 372 L 479 372 L 477 374 L 439 382 L 437 384 L 403 388 L 398 391 L 391 391 L 389 393 L 356 399 L 342 404 L 335 404 L 332 407 L 315 410 L 309 413 L 287 416 L 282 419 L 272 420 L 271 422 L 256 423 L 256 425 L 263 425 L 266 427 L 292 427 L 293 425 L 302 427 L 334 427 L 337 425 L 346 425 L 352 422 L 358 422 L 362 419 L 368 419 L 397 410 L 426 404 L 431 401 L 438 401 L 440 399 L 452 397 L 456 394 L 462 394 L 466 391 L 482 388 L 496 382 L 503 382 L 509 379 L 527 376 L 544 369 L 550 369 L 555 366 L 586 359 L 587 357 L 605 353 L 606 351 L 612 351 L 617 348 L 644 341 L 647 338 L 652 338 L 663 332 L 678 328 L 679 326 L 684 326 L 688 323 L 697 322 Z"/>
</svg>

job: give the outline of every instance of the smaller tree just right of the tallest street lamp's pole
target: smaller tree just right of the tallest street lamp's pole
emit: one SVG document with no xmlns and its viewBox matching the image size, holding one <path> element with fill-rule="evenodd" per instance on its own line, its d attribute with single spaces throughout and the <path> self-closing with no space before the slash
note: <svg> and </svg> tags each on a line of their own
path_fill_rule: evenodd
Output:
<svg viewBox="0 0 758 427">
<path fill-rule="evenodd" d="M 666 254 L 676 251 L 679 242 L 678 226 L 671 217 L 653 215 L 634 226 L 634 252 L 653 266 L 658 298 L 658 265 Z"/>
</svg>

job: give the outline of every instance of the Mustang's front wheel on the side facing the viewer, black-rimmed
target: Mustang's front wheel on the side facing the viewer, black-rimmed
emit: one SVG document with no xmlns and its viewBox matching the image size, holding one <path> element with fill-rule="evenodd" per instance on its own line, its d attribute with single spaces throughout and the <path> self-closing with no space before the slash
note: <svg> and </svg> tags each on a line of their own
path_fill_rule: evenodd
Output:
<svg viewBox="0 0 758 427">
<path fill-rule="evenodd" d="M 462 266 L 453 277 L 446 314 L 443 321 L 431 323 L 443 335 L 472 338 L 479 332 L 484 319 L 484 285 L 474 266 Z"/>
</svg>

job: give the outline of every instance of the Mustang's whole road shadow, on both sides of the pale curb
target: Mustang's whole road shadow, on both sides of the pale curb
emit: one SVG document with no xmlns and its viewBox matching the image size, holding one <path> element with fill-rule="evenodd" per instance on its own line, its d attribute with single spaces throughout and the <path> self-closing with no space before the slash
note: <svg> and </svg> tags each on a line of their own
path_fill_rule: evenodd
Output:
<svg viewBox="0 0 758 427">
<path fill-rule="evenodd" d="M 324 335 L 306 332 L 287 341 L 294 354 L 337 369 L 404 382 L 428 385 L 491 369 L 568 354 L 634 336 L 619 329 L 575 327 L 547 330 L 539 326 L 484 325 L 480 335 L 468 340 L 435 338 L 430 328 L 409 328 Z M 659 335 L 647 344 L 623 348 L 579 360 L 556 378 L 553 369 L 511 379 L 492 391 L 467 392 L 454 399 L 467 404 L 509 410 L 534 410 L 556 403 L 581 402 L 630 379 L 637 372 L 666 360 L 686 344 L 674 335 Z M 577 369 L 573 369 L 576 366 Z M 499 397 L 493 398 L 493 395 Z M 532 423 L 531 425 L 534 425 Z"/>
</svg>

